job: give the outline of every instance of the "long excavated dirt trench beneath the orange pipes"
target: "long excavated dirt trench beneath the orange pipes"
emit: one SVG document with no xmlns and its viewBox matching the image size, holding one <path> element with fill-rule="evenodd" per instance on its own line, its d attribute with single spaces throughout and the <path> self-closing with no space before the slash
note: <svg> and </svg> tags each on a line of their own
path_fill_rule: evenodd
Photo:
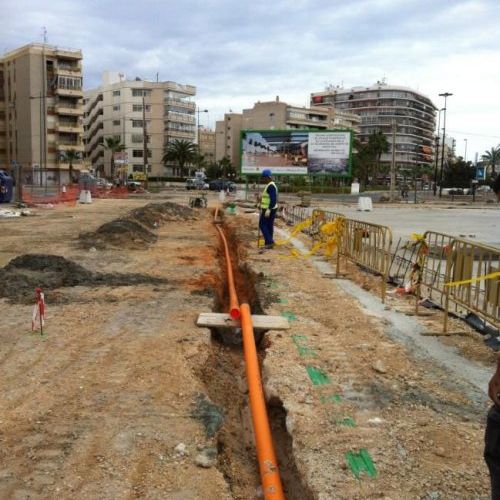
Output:
<svg viewBox="0 0 500 500">
<path fill-rule="evenodd" d="M 235 231 L 224 223 L 222 227 L 228 239 L 239 301 L 250 304 L 253 314 L 262 314 L 264 311 L 258 293 L 259 277 L 242 262 L 245 252 Z M 218 249 L 218 257 L 221 275 L 214 290 L 213 310 L 227 312 L 226 262 L 222 244 Z M 267 345 L 264 332 L 256 332 L 256 344 L 262 365 Z M 241 347 L 242 337 L 239 330 L 212 329 L 210 351 L 206 363 L 199 368 L 197 375 L 205 384 L 210 400 L 223 409 L 224 421 L 215 438 L 219 453 L 217 466 L 224 475 L 233 497 L 247 500 L 262 498 L 263 494 Z M 286 428 L 286 411 L 281 401 L 270 401 L 268 412 L 286 498 L 312 500 L 313 496 L 302 483 L 294 462 L 292 437 Z"/>
</svg>

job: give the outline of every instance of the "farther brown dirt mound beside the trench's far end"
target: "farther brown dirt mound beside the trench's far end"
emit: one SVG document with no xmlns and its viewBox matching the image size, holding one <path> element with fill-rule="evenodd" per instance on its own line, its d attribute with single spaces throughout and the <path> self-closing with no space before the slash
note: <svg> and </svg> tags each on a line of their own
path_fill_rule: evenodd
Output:
<svg viewBox="0 0 500 500">
<path fill-rule="evenodd" d="M 156 243 L 158 237 L 150 231 L 163 222 L 194 219 L 196 212 L 175 203 L 150 203 L 132 210 L 124 217 L 100 226 L 96 231 L 80 234 L 85 248 L 119 246 L 141 249 Z"/>
</svg>

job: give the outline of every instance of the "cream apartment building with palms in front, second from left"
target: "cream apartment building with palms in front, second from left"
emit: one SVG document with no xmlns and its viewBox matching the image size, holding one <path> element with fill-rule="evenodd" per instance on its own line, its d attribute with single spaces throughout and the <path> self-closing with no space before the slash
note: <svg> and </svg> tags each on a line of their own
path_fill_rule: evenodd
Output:
<svg viewBox="0 0 500 500">
<path fill-rule="evenodd" d="M 165 147 L 176 139 L 195 142 L 196 87 L 171 81 L 127 80 L 105 72 L 100 87 L 85 91 L 85 153 L 92 168 L 110 175 L 111 151 L 105 139 L 119 138 L 125 146 L 124 174 L 144 172 L 144 136 L 148 175 L 173 174 L 162 163 Z M 144 119 L 145 118 L 145 119 Z"/>
</svg>

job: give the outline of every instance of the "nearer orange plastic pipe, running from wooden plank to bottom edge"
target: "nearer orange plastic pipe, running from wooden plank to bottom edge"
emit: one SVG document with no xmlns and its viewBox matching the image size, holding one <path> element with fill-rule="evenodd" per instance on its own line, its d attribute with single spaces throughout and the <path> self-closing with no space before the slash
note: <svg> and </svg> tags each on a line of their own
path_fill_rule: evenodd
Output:
<svg viewBox="0 0 500 500">
<path fill-rule="evenodd" d="M 243 332 L 243 353 L 252 410 L 253 430 L 257 448 L 260 478 L 266 500 L 284 500 L 283 486 L 274 453 L 273 438 L 267 417 L 266 401 L 260 378 L 257 348 L 253 333 L 252 314 L 248 304 L 241 304 L 241 329 Z"/>
</svg>

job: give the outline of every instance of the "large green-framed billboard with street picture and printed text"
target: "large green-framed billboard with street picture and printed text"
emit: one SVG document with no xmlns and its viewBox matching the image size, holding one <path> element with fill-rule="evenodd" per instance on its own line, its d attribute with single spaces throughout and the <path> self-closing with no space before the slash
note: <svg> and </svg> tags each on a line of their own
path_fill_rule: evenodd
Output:
<svg viewBox="0 0 500 500">
<path fill-rule="evenodd" d="M 350 130 L 244 130 L 241 132 L 241 173 L 350 176 Z"/>
</svg>

